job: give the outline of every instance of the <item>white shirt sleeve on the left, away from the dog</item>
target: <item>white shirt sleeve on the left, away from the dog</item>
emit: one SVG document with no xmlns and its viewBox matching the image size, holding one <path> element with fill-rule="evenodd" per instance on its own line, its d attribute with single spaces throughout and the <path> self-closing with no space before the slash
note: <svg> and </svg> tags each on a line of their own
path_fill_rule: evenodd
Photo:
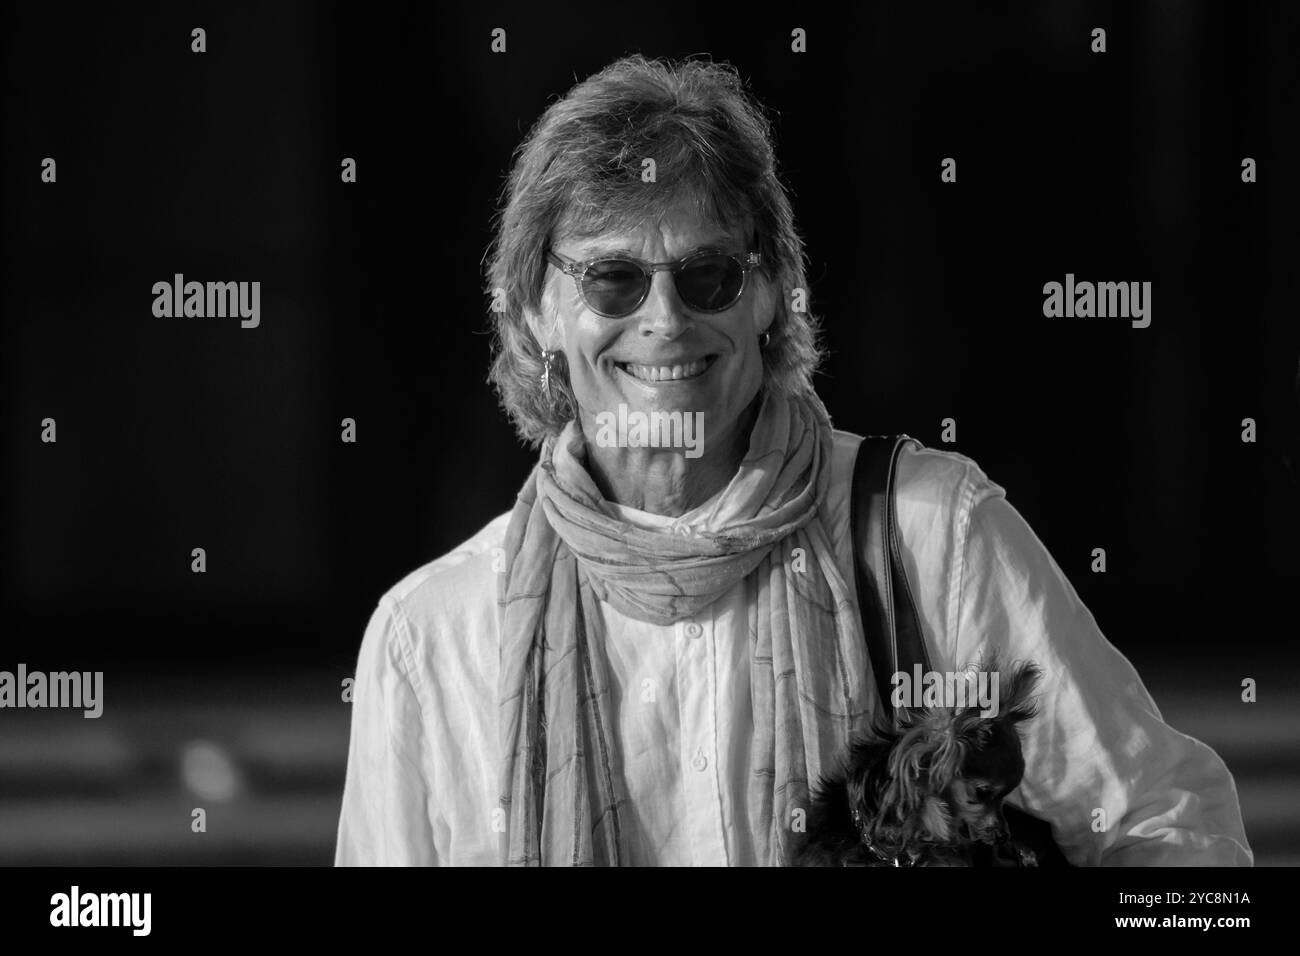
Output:
<svg viewBox="0 0 1300 956">
<path fill-rule="evenodd" d="M 380 602 L 352 695 L 335 866 L 437 866 L 429 747 L 411 682 L 400 609 Z"/>
</svg>

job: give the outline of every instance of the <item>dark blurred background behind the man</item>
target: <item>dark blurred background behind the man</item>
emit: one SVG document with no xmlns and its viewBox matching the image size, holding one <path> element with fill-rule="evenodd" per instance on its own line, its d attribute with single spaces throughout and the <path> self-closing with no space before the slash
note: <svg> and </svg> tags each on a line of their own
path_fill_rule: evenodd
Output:
<svg viewBox="0 0 1300 956">
<path fill-rule="evenodd" d="M 433 7 L 5 9 L 0 669 L 103 670 L 105 714 L 0 711 L 0 862 L 332 860 L 374 602 L 532 460 L 485 381 L 511 152 L 628 52 L 771 111 L 836 424 L 954 418 L 1300 862 L 1295 7 Z M 260 281 L 260 328 L 153 317 L 176 272 Z M 1150 281 L 1150 328 L 1045 319 L 1067 272 Z"/>
</svg>

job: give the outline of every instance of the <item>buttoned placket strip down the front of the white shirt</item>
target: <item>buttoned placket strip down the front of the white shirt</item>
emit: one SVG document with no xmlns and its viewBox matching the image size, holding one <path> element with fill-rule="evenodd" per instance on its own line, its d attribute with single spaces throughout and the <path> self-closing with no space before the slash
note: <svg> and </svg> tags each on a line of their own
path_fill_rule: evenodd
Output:
<svg viewBox="0 0 1300 956">
<path fill-rule="evenodd" d="M 703 618 L 703 619 L 701 619 Z M 676 624 L 681 779 L 686 829 L 697 866 L 727 866 L 723 793 L 718 765 L 718 675 L 710 615 Z"/>
</svg>

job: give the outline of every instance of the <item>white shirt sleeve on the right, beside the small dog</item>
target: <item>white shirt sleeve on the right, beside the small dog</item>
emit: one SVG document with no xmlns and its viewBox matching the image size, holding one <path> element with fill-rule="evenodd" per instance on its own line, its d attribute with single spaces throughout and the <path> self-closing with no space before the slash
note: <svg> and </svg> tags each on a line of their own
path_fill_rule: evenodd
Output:
<svg viewBox="0 0 1300 956">
<path fill-rule="evenodd" d="M 1251 866 L 1223 761 L 1164 722 L 1002 489 L 985 479 L 971 499 L 958 662 L 997 648 L 1004 667 L 1030 659 L 1044 671 L 1011 803 L 1050 821 L 1075 865 Z"/>
</svg>

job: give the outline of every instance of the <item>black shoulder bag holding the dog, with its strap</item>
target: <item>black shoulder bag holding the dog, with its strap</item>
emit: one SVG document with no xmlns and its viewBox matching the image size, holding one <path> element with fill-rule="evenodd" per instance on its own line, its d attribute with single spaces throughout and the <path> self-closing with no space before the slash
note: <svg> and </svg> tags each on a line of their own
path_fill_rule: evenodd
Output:
<svg viewBox="0 0 1300 956">
<path fill-rule="evenodd" d="M 920 615 L 902 563 L 894 506 L 894 472 L 907 442 L 920 446 L 906 434 L 867 436 L 862 440 L 853 464 L 849 505 L 862 632 L 885 713 L 889 713 L 896 672 L 911 674 L 918 663 L 922 671 L 930 670 Z M 1004 804 L 1002 813 L 1011 838 L 1034 853 L 1039 866 L 1070 866 L 1046 821 L 1010 804 Z"/>
</svg>

